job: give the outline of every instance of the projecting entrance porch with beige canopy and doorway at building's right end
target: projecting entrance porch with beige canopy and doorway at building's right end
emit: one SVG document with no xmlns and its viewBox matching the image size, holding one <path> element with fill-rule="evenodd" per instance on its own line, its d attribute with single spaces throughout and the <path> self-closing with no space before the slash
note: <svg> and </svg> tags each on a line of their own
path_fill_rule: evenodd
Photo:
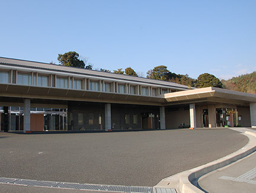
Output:
<svg viewBox="0 0 256 193">
<path fill-rule="evenodd" d="M 189 105 L 192 128 L 196 128 L 196 124 L 198 127 L 240 126 L 239 123 L 244 120 L 247 120 L 247 124 L 251 122 L 251 126 L 256 126 L 254 94 L 208 87 L 169 93 L 164 97 L 167 101 L 165 106 L 171 109 L 179 105 Z M 182 121 L 180 119 L 181 124 L 185 124 Z"/>
</svg>

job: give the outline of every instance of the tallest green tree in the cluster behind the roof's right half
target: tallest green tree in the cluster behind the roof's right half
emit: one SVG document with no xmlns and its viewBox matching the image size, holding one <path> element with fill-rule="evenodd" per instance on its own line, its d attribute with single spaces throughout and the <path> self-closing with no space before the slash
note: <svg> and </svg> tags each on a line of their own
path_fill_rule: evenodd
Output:
<svg viewBox="0 0 256 193">
<path fill-rule="evenodd" d="M 154 67 L 152 70 L 148 70 L 146 78 L 167 81 L 168 74 L 169 70 L 167 70 L 167 66 L 161 65 Z"/>
</svg>

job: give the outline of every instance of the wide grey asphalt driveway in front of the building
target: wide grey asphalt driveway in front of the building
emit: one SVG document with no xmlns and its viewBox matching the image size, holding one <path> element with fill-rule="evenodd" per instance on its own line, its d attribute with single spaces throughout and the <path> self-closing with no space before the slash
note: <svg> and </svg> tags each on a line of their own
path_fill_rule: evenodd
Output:
<svg viewBox="0 0 256 193">
<path fill-rule="evenodd" d="M 0 176 L 153 186 L 228 155 L 247 137 L 227 128 L 118 133 L 0 133 Z"/>
</svg>

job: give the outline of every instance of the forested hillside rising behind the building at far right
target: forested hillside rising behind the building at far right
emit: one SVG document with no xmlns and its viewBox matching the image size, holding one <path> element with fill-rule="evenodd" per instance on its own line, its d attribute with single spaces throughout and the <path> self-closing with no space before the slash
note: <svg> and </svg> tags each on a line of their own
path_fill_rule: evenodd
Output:
<svg viewBox="0 0 256 193">
<path fill-rule="evenodd" d="M 223 88 L 256 94 L 256 71 L 221 82 Z"/>
</svg>

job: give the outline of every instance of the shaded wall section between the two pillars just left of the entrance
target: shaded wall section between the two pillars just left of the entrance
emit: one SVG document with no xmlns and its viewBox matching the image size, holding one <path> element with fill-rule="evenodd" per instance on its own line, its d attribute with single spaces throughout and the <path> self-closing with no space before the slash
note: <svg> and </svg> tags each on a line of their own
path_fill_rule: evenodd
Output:
<svg viewBox="0 0 256 193">
<path fill-rule="evenodd" d="M 185 123 L 187 128 L 190 127 L 190 112 L 179 108 L 177 111 L 165 110 L 165 127 L 179 128 L 180 124 Z"/>
</svg>

